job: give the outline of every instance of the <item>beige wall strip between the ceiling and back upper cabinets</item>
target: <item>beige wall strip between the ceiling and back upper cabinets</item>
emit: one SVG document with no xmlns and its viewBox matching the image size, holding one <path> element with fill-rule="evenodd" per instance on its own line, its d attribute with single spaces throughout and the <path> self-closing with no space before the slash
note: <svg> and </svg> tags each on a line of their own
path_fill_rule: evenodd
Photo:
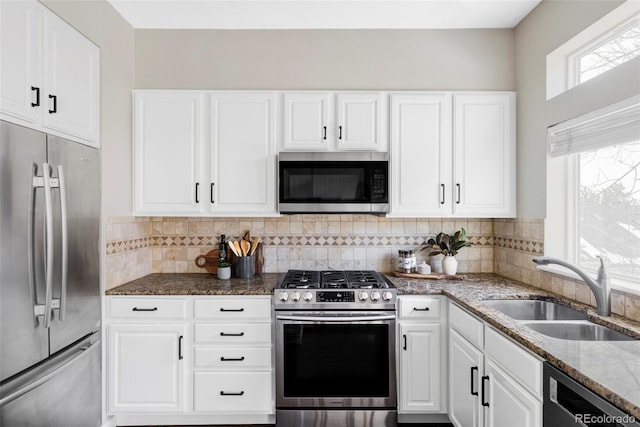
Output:
<svg viewBox="0 0 640 427">
<path fill-rule="evenodd" d="M 136 30 L 138 89 L 514 90 L 513 30 Z"/>
</svg>

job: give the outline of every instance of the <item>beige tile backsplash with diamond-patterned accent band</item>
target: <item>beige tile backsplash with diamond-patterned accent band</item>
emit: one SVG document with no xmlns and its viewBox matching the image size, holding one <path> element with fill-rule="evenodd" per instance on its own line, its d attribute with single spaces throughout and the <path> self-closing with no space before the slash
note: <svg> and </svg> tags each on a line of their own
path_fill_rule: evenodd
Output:
<svg viewBox="0 0 640 427">
<path fill-rule="evenodd" d="M 245 230 L 263 244 L 264 271 L 374 269 L 393 271 L 399 249 L 420 249 L 440 231 L 462 227 L 473 244 L 457 258 L 461 273 L 497 273 L 595 306 L 579 280 L 536 269 L 544 254 L 542 219 L 424 219 L 375 215 L 286 215 L 277 218 L 112 217 L 106 230 L 107 289 L 150 273 L 206 273 L 194 259 L 217 248 L 221 234 Z M 418 263 L 426 259 L 418 253 Z M 614 291 L 614 313 L 640 320 L 640 297 Z"/>
</svg>

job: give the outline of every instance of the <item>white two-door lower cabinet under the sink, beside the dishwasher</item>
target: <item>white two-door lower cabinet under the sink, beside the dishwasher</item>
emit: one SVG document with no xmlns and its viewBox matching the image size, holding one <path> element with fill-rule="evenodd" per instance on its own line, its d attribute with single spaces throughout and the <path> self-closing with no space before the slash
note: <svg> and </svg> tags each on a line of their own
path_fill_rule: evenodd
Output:
<svg viewBox="0 0 640 427">
<path fill-rule="evenodd" d="M 542 426 L 542 361 L 454 304 L 449 418 L 458 427 Z"/>
</svg>

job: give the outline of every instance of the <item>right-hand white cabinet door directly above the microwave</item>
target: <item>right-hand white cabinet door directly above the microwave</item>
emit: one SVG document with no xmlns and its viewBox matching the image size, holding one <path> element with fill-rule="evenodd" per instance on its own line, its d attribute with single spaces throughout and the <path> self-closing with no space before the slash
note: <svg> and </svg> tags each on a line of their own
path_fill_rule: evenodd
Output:
<svg viewBox="0 0 640 427">
<path fill-rule="evenodd" d="M 338 150 L 386 150 L 381 129 L 381 94 L 338 93 L 336 108 Z"/>
</svg>

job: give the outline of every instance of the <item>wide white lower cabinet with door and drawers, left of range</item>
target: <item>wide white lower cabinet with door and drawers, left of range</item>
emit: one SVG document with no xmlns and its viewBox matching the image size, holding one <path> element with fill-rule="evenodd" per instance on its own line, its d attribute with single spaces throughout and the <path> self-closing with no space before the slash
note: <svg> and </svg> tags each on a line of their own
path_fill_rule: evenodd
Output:
<svg viewBox="0 0 640 427">
<path fill-rule="evenodd" d="M 271 298 L 107 298 L 118 425 L 272 424 Z"/>
</svg>

